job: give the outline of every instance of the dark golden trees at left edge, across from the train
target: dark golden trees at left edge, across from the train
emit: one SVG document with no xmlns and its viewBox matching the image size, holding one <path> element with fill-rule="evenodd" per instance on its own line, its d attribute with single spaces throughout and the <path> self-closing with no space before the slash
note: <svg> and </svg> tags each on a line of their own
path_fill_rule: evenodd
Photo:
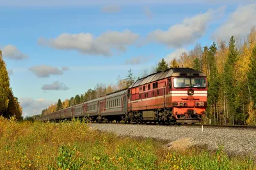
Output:
<svg viewBox="0 0 256 170">
<path fill-rule="evenodd" d="M 10 87 L 10 78 L 6 69 L 6 64 L 3 60 L 0 50 L 0 116 L 5 118 L 15 117 L 17 120 L 22 120 L 22 108 L 18 98 L 13 95 Z"/>
</svg>

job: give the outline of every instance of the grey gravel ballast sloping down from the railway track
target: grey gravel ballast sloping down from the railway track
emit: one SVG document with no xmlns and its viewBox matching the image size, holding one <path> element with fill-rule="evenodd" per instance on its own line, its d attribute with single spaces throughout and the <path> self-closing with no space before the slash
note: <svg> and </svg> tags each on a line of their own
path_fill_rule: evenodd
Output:
<svg viewBox="0 0 256 170">
<path fill-rule="evenodd" d="M 170 142 L 190 138 L 193 145 L 207 145 L 209 150 L 222 145 L 232 155 L 253 153 L 256 155 L 255 129 L 229 129 L 189 126 L 132 125 L 132 124 L 90 124 L 99 131 L 114 132 L 124 136 L 164 139 Z"/>
</svg>

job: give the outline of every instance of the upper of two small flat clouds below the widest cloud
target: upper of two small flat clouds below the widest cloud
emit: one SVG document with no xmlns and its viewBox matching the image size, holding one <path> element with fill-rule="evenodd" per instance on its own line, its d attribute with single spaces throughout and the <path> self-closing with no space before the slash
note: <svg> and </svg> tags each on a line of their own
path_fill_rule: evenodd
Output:
<svg viewBox="0 0 256 170">
<path fill-rule="evenodd" d="M 46 66 L 46 65 L 29 67 L 29 71 L 36 74 L 36 76 L 40 78 L 49 77 L 51 74 L 52 75 L 63 74 L 63 71 L 58 69 L 58 67 L 52 67 L 52 66 Z"/>
</svg>

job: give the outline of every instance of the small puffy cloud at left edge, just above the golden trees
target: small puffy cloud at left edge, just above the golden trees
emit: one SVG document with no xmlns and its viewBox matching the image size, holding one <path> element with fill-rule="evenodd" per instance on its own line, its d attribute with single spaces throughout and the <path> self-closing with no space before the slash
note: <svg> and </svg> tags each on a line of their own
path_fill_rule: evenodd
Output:
<svg viewBox="0 0 256 170">
<path fill-rule="evenodd" d="M 3 57 L 12 60 L 27 59 L 28 55 L 20 52 L 20 50 L 14 45 L 6 45 L 2 50 Z"/>
</svg>

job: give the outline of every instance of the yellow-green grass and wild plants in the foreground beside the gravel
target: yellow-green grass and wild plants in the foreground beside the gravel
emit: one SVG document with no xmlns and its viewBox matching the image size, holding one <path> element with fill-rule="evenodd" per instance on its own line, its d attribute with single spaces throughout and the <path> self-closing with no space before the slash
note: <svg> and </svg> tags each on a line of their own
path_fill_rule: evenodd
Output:
<svg viewBox="0 0 256 170">
<path fill-rule="evenodd" d="M 174 152 L 163 141 L 94 131 L 86 122 L 17 122 L 0 117 L 0 169 L 256 169 L 222 150 Z"/>
</svg>

